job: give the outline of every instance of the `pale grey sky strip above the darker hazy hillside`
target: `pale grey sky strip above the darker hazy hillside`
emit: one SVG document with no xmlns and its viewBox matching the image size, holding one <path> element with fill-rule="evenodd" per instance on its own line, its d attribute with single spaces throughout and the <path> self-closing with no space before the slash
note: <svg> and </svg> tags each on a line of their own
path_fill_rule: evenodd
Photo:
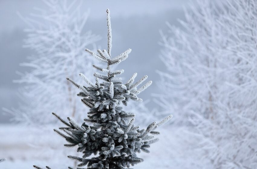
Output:
<svg viewBox="0 0 257 169">
<path fill-rule="evenodd" d="M 69 1 L 68 1 L 69 2 Z M 187 5 L 188 0 L 125 0 L 125 1 L 83 1 L 81 10 L 90 9 L 91 19 L 104 18 L 103 12 L 109 8 L 112 12 L 112 18 L 129 18 L 133 16 L 158 15 L 163 11 L 171 11 L 174 9 L 181 10 L 182 6 Z M 0 1 L 0 21 L 4 26 L 0 27 L 0 31 L 13 31 L 18 27 L 24 27 L 24 22 L 17 16 L 20 12 L 23 16 L 28 16 L 33 12 L 33 8 L 44 8 L 47 6 L 41 0 L 12 0 Z"/>
</svg>

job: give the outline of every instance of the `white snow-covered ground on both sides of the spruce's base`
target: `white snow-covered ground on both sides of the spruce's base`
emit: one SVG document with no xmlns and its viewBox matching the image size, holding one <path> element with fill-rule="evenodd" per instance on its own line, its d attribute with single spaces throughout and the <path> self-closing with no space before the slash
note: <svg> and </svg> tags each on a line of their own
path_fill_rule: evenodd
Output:
<svg viewBox="0 0 257 169">
<path fill-rule="evenodd" d="M 74 166 L 74 161 L 67 159 L 67 155 L 76 155 L 76 148 L 65 148 L 64 139 L 54 133 L 53 126 L 39 131 L 24 126 L 0 126 L 0 158 L 7 158 L 1 163 L 1 169 L 29 169 L 32 165 L 53 169 L 67 169 Z M 57 127 L 56 127 L 57 128 Z M 193 159 L 196 154 L 189 152 L 192 145 L 190 133 L 184 132 L 182 127 L 163 126 L 160 128 L 159 142 L 153 144 L 150 153 L 140 153 L 144 162 L 135 165 L 135 169 L 193 169 Z M 184 139 L 184 141 L 182 141 Z M 187 145 L 183 145 L 188 140 Z M 197 140 L 195 140 L 197 144 Z M 192 147 L 190 148 L 192 149 Z M 197 152 L 195 152 L 197 153 Z M 195 159 L 197 160 L 197 159 Z"/>
</svg>

